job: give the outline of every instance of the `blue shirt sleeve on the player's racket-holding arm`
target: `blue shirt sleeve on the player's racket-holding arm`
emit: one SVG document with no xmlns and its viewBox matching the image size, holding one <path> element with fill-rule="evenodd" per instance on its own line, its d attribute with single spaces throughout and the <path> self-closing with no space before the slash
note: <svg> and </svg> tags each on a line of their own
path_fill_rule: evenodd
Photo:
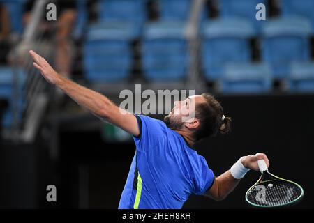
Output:
<svg viewBox="0 0 314 223">
<path fill-rule="evenodd" d="M 204 157 L 200 156 L 200 162 L 197 171 L 195 171 L 194 194 L 202 195 L 207 192 L 214 184 L 214 172 L 209 169 Z"/>
</svg>

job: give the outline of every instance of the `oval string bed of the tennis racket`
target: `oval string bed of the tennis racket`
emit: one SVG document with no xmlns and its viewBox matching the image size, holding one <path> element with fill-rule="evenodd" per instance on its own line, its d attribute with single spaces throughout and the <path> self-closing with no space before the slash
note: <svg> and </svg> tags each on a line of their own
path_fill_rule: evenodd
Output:
<svg viewBox="0 0 314 223">
<path fill-rule="evenodd" d="M 281 206 L 298 199 L 301 189 L 293 183 L 274 180 L 255 185 L 248 194 L 248 201 L 260 206 Z"/>
</svg>

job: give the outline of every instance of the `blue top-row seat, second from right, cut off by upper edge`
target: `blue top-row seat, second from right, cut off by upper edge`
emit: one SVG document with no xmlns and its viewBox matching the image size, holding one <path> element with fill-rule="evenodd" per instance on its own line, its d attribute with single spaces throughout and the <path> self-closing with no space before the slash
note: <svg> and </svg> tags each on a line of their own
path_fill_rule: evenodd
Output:
<svg viewBox="0 0 314 223">
<path fill-rule="evenodd" d="M 239 17 L 248 20 L 256 31 L 260 31 L 262 24 L 265 23 L 265 21 L 256 20 L 257 10 L 255 8 L 258 3 L 264 3 L 267 8 L 266 0 L 220 0 L 219 2 L 221 17 Z"/>
</svg>

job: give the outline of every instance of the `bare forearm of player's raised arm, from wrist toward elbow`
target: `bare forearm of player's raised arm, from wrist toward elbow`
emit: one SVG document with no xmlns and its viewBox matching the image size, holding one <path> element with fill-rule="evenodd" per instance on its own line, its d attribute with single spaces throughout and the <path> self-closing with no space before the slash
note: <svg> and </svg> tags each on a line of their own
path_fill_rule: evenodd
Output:
<svg viewBox="0 0 314 223">
<path fill-rule="evenodd" d="M 107 111 L 114 107 L 114 104 L 104 95 L 80 86 L 61 75 L 59 75 L 55 85 L 75 100 L 77 104 L 88 109 L 96 116 L 106 118 Z"/>
</svg>

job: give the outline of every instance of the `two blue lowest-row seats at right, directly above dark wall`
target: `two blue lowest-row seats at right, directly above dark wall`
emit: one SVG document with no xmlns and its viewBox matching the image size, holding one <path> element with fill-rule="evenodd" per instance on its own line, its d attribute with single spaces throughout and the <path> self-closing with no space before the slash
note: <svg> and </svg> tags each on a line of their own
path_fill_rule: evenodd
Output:
<svg viewBox="0 0 314 223">
<path fill-rule="evenodd" d="M 314 93 L 314 61 L 294 62 L 288 70 L 285 91 Z M 267 63 L 227 63 L 218 82 L 223 93 L 267 93 L 273 89 L 271 66 Z"/>
</svg>

